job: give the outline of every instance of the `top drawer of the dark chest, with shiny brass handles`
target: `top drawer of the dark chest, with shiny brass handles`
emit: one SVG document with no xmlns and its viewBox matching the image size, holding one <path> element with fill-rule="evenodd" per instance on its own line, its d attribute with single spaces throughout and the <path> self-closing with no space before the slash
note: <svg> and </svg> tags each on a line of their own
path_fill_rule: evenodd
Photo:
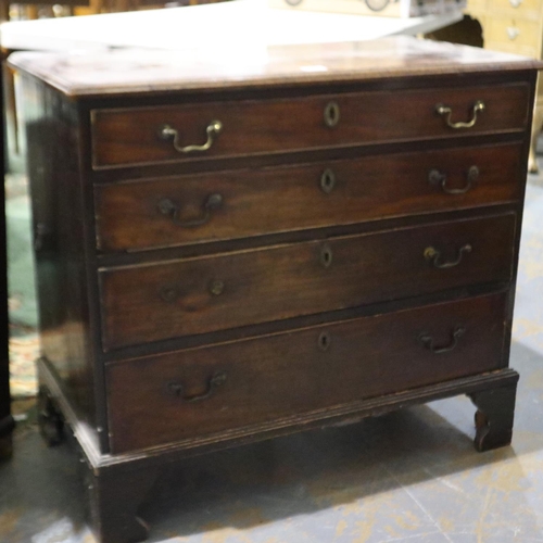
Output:
<svg viewBox="0 0 543 543">
<path fill-rule="evenodd" d="M 517 130 L 526 125 L 528 98 L 527 84 L 510 84 L 94 110 L 92 161 L 101 168 Z M 479 100 L 484 111 L 471 128 L 451 128 L 437 113 L 444 104 L 452 123 L 466 123 Z"/>
</svg>

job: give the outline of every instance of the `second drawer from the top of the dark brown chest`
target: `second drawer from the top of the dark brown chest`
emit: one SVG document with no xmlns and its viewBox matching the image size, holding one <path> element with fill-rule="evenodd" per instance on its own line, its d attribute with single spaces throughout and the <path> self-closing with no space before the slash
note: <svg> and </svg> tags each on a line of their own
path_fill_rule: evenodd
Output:
<svg viewBox="0 0 543 543">
<path fill-rule="evenodd" d="M 247 238 L 517 201 L 521 147 L 470 147 L 94 187 L 101 251 Z"/>
</svg>

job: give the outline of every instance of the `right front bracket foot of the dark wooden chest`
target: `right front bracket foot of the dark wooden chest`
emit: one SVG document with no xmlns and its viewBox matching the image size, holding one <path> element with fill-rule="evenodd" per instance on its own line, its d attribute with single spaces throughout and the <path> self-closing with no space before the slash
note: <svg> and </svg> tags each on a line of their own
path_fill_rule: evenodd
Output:
<svg viewBox="0 0 543 543">
<path fill-rule="evenodd" d="M 478 407 L 475 416 L 477 451 L 490 451 L 510 444 L 517 386 L 483 390 L 469 394 Z"/>
</svg>

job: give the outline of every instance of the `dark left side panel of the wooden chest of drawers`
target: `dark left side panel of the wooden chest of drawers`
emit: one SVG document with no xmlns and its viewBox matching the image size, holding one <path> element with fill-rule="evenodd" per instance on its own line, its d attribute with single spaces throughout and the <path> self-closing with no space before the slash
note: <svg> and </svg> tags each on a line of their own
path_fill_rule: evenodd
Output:
<svg viewBox="0 0 543 543">
<path fill-rule="evenodd" d="M 72 128 L 76 111 L 39 81 L 25 88 L 33 102 L 25 128 L 41 355 L 54 367 L 81 420 L 97 428 L 93 383 L 99 367 L 91 355 L 85 212 Z"/>
</svg>

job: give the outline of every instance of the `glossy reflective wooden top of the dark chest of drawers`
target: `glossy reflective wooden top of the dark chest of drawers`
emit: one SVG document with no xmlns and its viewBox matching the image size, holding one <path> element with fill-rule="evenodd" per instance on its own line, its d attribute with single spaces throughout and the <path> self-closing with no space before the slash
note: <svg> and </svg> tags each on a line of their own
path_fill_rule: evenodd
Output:
<svg viewBox="0 0 543 543">
<path fill-rule="evenodd" d="M 9 62 L 72 97 L 543 68 L 543 63 L 533 59 L 406 36 L 344 43 L 245 46 L 243 51 L 222 51 L 218 47 L 186 52 L 18 52 Z"/>
</svg>

